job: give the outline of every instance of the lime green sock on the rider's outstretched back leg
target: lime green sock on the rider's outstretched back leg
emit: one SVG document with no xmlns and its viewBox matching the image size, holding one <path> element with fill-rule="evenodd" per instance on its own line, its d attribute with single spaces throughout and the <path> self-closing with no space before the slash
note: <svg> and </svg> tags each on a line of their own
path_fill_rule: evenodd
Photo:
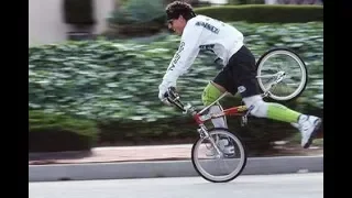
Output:
<svg viewBox="0 0 352 198">
<path fill-rule="evenodd" d="M 300 114 L 301 113 L 290 110 L 283 105 L 268 102 L 267 118 L 270 119 L 289 123 L 297 123 L 298 117 Z"/>
</svg>

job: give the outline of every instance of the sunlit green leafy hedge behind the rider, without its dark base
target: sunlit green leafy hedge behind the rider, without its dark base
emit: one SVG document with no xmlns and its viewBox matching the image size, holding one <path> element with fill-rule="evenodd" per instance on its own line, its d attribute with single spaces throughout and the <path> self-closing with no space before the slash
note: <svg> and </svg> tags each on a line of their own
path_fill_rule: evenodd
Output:
<svg viewBox="0 0 352 198">
<path fill-rule="evenodd" d="M 309 81 L 299 100 L 322 108 L 321 23 L 233 25 L 243 32 L 256 58 L 276 46 L 302 56 Z M 173 117 L 173 111 L 160 106 L 157 86 L 178 42 L 178 36 L 168 36 L 146 45 L 99 40 L 31 47 L 29 107 L 91 119 L 155 121 Z M 201 53 L 178 80 L 185 100 L 201 106 L 200 94 L 217 72 L 213 57 Z"/>
</svg>

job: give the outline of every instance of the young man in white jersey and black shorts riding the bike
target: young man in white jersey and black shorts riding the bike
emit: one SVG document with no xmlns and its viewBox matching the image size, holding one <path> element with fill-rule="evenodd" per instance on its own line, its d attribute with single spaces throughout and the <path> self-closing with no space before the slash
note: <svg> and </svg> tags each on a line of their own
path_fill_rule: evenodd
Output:
<svg viewBox="0 0 352 198">
<path fill-rule="evenodd" d="M 253 106 L 252 116 L 292 123 L 301 133 L 301 146 L 310 146 L 321 125 L 321 119 L 262 99 L 255 78 L 255 57 L 243 44 L 243 34 L 239 30 L 219 20 L 197 15 L 190 4 L 182 1 L 169 3 L 166 7 L 166 15 L 168 28 L 182 38 L 179 48 L 158 87 L 158 98 L 162 101 L 167 103 L 165 92 L 169 87 L 176 87 L 177 78 L 187 73 L 199 51 L 212 51 L 224 67 L 206 86 L 201 97 L 205 106 L 212 103 L 226 91 L 232 95 L 239 91 L 244 105 L 248 108 Z M 219 112 L 220 107 L 212 106 L 209 111 Z M 222 118 L 213 119 L 212 123 L 216 128 L 226 128 Z"/>
</svg>

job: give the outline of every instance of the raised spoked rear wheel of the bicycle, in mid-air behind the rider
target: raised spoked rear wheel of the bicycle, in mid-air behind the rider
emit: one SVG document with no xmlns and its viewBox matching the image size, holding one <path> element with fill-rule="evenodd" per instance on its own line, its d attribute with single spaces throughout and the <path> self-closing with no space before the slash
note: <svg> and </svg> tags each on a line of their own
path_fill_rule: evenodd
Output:
<svg viewBox="0 0 352 198">
<path fill-rule="evenodd" d="M 274 100 L 296 99 L 307 86 L 306 64 L 294 51 L 270 50 L 261 56 L 256 65 L 260 88 Z"/>
</svg>

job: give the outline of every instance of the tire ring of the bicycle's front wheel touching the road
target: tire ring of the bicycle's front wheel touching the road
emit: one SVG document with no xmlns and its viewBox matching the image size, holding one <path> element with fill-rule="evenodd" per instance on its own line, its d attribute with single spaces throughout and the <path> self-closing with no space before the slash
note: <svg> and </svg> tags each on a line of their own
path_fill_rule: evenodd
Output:
<svg viewBox="0 0 352 198">
<path fill-rule="evenodd" d="M 191 147 L 191 163 L 193 163 L 193 166 L 194 168 L 196 169 L 196 172 L 198 173 L 198 175 L 200 175 L 202 178 L 205 178 L 206 180 L 209 180 L 209 182 L 212 182 L 212 183 L 228 183 L 228 182 L 231 182 L 233 180 L 234 178 L 237 178 L 239 175 L 241 175 L 241 173 L 243 172 L 244 167 L 246 166 L 246 161 L 248 161 L 248 152 L 246 152 L 246 147 L 245 145 L 243 144 L 243 141 L 241 140 L 241 138 L 239 135 L 237 135 L 235 133 L 229 131 L 228 129 L 226 128 L 213 128 L 213 129 L 210 129 L 208 131 L 209 135 L 212 135 L 215 134 L 216 132 L 219 132 L 219 131 L 222 131 L 223 134 L 228 135 L 228 136 L 231 136 L 238 144 L 239 148 L 242 151 L 242 155 L 243 157 L 241 157 L 242 160 L 242 165 L 240 165 L 238 169 L 238 172 L 235 174 L 233 174 L 231 177 L 229 178 L 226 178 L 226 179 L 215 179 L 215 178 L 211 178 L 209 176 L 207 176 L 207 174 L 209 175 L 209 173 L 204 173 L 206 170 L 202 170 L 202 168 L 200 167 L 199 163 L 198 163 L 198 158 L 196 158 L 196 148 L 197 148 L 197 145 L 199 143 L 201 143 L 202 139 L 199 138 L 193 145 Z M 241 156 L 242 156 L 241 155 Z M 198 167 L 199 166 L 199 167 Z M 231 175 L 230 174 L 230 175 Z"/>
</svg>

